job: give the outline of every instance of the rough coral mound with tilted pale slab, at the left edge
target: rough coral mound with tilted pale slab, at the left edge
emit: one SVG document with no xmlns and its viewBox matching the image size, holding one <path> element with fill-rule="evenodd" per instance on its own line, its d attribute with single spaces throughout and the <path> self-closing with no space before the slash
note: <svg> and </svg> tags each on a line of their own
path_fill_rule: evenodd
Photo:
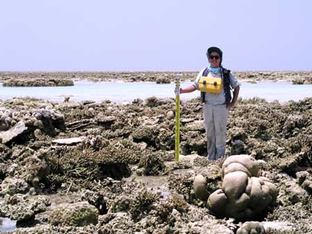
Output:
<svg viewBox="0 0 312 234">
<path fill-rule="evenodd" d="M 33 99 L 11 99 L 5 108 L 0 107 L 0 112 L 0 142 L 3 144 L 20 144 L 34 137 L 39 139 L 42 134 L 55 135 L 55 128 L 66 128 L 62 113 Z"/>
</svg>

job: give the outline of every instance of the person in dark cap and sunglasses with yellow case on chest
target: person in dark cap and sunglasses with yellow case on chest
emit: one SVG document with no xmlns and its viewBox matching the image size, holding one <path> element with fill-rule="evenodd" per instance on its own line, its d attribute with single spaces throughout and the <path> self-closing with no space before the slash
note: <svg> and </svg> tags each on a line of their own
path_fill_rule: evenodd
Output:
<svg viewBox="0 0 312 234">
<path fill-rule="evenodd" d="M 180 88 L 180 94 L 200 90 L 204 103 L 204 123 L 207 136 L 208 160 L 225 156 L 227 118 L 239 97 L 241 83 L 222 67 L 223 52 L 218 47 L 207 49 L 209 67 L 202 69 L 193 85 Z M 232 97 L 232 90 L 233 97 Z"/>
</svg>

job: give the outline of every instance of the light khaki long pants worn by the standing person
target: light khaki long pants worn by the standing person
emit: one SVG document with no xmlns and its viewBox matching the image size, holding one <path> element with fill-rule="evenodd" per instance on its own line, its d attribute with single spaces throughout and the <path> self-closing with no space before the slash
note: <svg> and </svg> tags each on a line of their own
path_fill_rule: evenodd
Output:
<svg viewBox="0 0 312 234">
<path fill-rule="evenodd" d="M 204 104 L 204 122 L 207 136 L 207 153 L 209 160 L 225 156 L 227 117 L 226 105 Z"/>
</svg>

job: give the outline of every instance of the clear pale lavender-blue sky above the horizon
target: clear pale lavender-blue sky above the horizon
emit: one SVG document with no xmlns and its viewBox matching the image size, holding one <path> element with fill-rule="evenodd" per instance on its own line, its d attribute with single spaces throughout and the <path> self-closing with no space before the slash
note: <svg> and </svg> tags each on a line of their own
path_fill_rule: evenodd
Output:
<svg viewBox="0 0 312 234">
<path fill-rule="evenodd" d="M 0 71 L 312 70 L 311 0 L 1 0 Z"/>
</svg>

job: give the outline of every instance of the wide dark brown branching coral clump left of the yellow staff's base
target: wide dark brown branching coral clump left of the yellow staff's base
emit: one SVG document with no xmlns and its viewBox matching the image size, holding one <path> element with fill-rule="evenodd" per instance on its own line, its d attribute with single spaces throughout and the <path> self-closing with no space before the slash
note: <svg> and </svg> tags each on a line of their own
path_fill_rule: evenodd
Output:
<svg viewBox="0 0 312 234">
<path fill-rule="evenodd" d="M 119 149 L 112 144 L 99 151 L 90 147 L 59 147 L 49 152 L 49 178 L 56 185 L 71 179 L 85 183 L 107 177 L 121 179 L 123 176 L 130 176 L 130 155 L 131 151 Z"/>
</svg>

